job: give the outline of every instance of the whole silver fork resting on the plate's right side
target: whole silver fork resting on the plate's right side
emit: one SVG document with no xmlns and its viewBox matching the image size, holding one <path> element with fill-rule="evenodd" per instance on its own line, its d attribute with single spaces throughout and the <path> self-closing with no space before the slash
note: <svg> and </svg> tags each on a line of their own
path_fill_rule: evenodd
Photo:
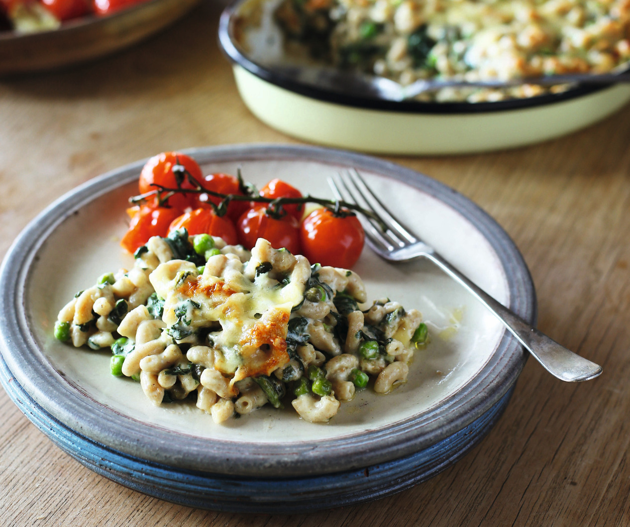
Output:
<svg viewBox="0 0 630 527">
<path fill-rule="evenodd" d="M 377 255 L 390 262 L 407 262 L 417 257 L 431 260 L 456 282 L 471 292 L 481 303 L 498 318 L 514 335 L 527 351 L 542 366 L 558 379 L 568 382 L 587 381 L 602 373 L 602 368 L 595 362 L 580 357 L 554 340 L 530 326 L 518 315 L 496 301 L 488 293 L 476 286 L 459 270 L 435 250 L 405 229 L 387 211 L 381 200 L 370 190 L 364 178 L 357 170 L 339 174 L 336 180 L 328 179 L 337 199 L 354 202 L 368 211 L 374 212 L 387 229 L 369 217 L 360 217 L 365 228 L 365 236 L 370 247 Z"/>
</svg>

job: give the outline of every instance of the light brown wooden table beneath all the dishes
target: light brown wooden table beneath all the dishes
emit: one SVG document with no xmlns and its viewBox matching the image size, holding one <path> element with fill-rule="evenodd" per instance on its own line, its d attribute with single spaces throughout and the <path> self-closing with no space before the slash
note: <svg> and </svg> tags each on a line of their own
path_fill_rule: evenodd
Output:
<svg viewBox="0 0 630 527">
<path fill-rule="evenodd" d="M 134 49 L 0 81 L 0 252 L 77 184 L 167 149 L 294 142 L 239 99 L 205 3 Z M 401 494 L 309 516 L 180 507 L 90 472 L 0 390 L 0 525 L 626 525 L 630 523 L 630 107 L 530 148 L 396 158 L 490 212 L 536 283 L 539 328 L 604 368 L 566 384 L 530 360 L 463 460 Z"/>
</svg>

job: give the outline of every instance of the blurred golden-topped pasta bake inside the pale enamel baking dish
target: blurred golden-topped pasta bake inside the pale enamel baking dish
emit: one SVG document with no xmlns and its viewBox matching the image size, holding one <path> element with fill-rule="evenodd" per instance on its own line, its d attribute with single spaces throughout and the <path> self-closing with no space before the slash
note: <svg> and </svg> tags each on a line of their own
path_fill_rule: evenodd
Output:
<svg viewBox="0 0 630 527">
<path fill-rule="evenodd" d="M 600 73 L 630 61 L 628 0 L 283 0 L 276 18 L 314 55 L 401 84 Z M 443 88 L 420 98 L 497 101 L 548 89 Z"/>
</svg>

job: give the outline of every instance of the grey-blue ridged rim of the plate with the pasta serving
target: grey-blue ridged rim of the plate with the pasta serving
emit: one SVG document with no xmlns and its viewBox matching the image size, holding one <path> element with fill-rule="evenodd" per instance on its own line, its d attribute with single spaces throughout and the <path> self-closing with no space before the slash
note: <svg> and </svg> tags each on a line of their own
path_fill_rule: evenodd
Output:
<svg viewBox="0 0 630 527">
<path fill-rule="evenodd" d="M 329 148 L 278 144 L 236 144 L 183 150 L 201 164 L 247 159 L 289 159 L 314 161 L 328 165 L 354 166 L 407 183 L 455 208 L 486 238 L 503 267 L 510 290 L 510 308 L 525 320 L 536 320 L 536 293 L 531 275 L 518 248 L 494 219 L 471 200 L 443 183 L 409 168 L 364 154 Z M 339 472 L 358 466 L 374 465 L 399 458 L 426 448 L 452 435 L 491 408 L 515 383 L 527 354 L 517 340 L 504 332 L 490 361 L 454 395 L 416 417 L 393 422 L 369 434 L 348 434 L 316 442 L 297 441 L 281 445 L 239 441 L 241 452 L 234 453 L 234 443 L 201 437 L 183 436 L 175 431 L 159 429 L 150 424 L 113 412 L 93 403 L 67 382 L 47 385 L 35 382 L 42 378 L 59 381 L 60 374 L 49 362 L 40 362 L 38 349 L 25 312 L 25 287 L 28 274 L 37 258 L 38 248 L 74 211 L 137 177 L 146 159 L 109 171 L 71 190 L 41 212 L 20 233 L 9 248 L 0 267 L 0 294 L 5 302 L 0 311 L 0 352 L 9 371 L 18 383 L 47 412 L 77 433 L 109 448 L 148 461 L 183 469 L 212 473 L 256 476 L 305 475 Z M 16 346 L 9 349 L 8 343 Z M 26 359 L 26 361 L 25 361 Z M 37 359 L 37 360 L 36 360 Z M 450 418 L 446 417 L 450 414 Z M 134 428 L 121 424 L 130 422 Z M 122 433 L 121 433 L 122 432 Z M 168 439 L 178 437 L 186 447 L 173 456 Z M 374 449 L 378 446 L 378 449 Z M 332 449 L 332 450 L 331 450 Z"/>
</svg>

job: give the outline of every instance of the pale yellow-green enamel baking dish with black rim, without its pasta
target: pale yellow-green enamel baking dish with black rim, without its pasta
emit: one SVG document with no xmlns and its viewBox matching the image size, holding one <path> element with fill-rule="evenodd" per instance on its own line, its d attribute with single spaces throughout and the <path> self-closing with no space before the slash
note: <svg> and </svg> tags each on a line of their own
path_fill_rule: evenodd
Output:
<svg viewBox="0 0 630 527">
<path fill-rule="evenodd" d="M 222 14 L 219 42 L 249 110 L 304 141 L 388 154 L 511 148 L 583 128 L 630 100 L 630 86 L 622 84 L 491 103 L 398 102 L 340 92 L 317 74 L 287 76 L 296 59 L 284 52 L 284 37 L 272 16 L 276 4 L 234 1 Z M 254 18 L 251 12 L 258 13 L 258 6 L 261 24 L 253 27 L 246 20 Z"/>
</svg>

